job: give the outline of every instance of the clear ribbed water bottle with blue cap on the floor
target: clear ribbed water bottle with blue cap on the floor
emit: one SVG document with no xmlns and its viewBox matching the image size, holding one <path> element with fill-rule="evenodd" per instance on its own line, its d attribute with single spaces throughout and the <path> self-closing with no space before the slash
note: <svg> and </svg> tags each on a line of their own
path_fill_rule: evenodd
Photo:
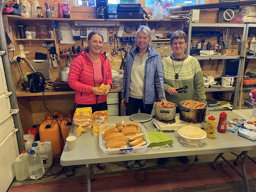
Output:
<svg viewBox="0 0 256 192">
<path fill-rule="evenodd" d="M 28 153 L 30 153 L 27 159 L 29 177 L 31 179 L 39 179 L 44 175 L 44 165 L 42 157 L 39 154 L 35 153 L 34 150 L 30 150 L 30 152 Z"/>
</svg>

